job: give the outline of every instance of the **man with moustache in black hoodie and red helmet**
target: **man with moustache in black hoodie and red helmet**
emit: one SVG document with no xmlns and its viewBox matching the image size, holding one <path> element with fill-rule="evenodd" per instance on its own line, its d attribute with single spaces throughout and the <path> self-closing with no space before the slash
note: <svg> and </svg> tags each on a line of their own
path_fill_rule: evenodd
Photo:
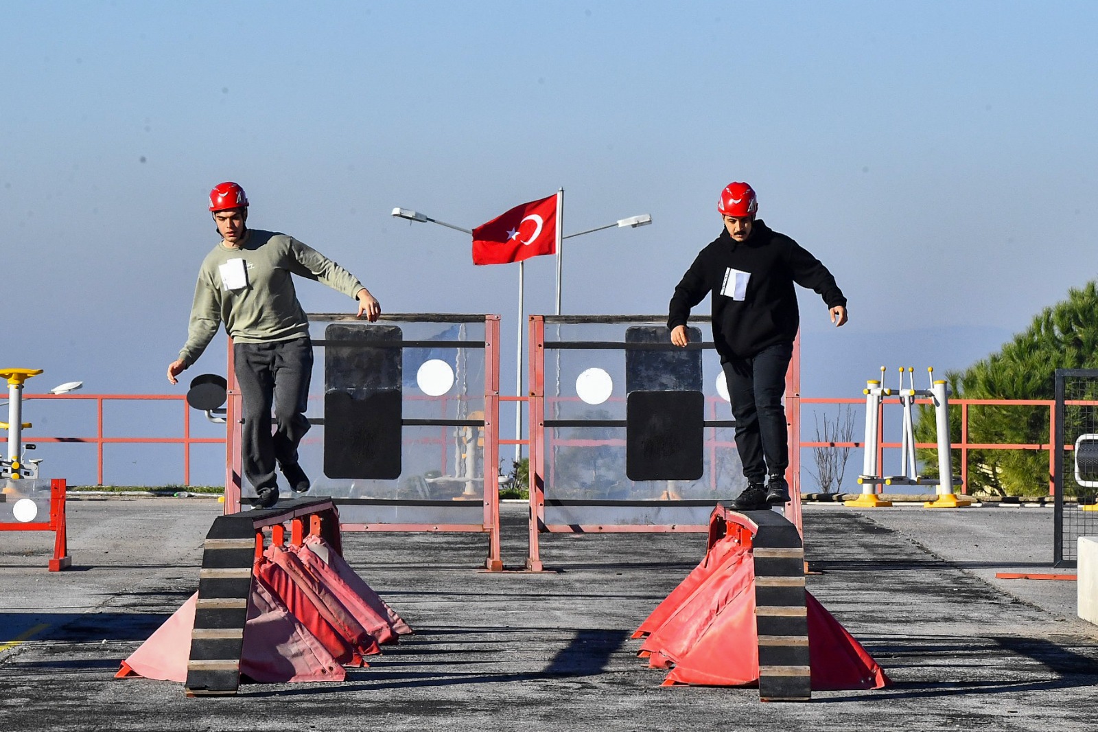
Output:
<svg viewBox="0 0 1098 732">
<path fill-rule="evenodd" d="M 736 448 L 748 479 L 736 499 L 740 510 L 789 500 L 782 395 L 800 324 L 794 282 L 824 298 L 832 323 L 847 322 L 847 298 L 831 273 L 795 241 L 755 220 L 758 210 L 747 184 L 732 182 L 721 191 L 717 211 L 725 230 L 683 275 L 668 314 L 671 342 L 685 346 L 691 308 L 712 296 L 713 342 L 728 380 Z"/>
</svg>

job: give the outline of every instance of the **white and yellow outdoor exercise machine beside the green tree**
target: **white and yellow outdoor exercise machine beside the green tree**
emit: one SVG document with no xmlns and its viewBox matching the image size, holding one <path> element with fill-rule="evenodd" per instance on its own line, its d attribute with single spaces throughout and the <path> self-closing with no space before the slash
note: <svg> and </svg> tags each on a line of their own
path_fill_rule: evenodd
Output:
<svg viewBox="0 0 1098 732">
<path fill-rule="evenodd" d="M 915 369 L 899 367 L 899 385 L 896 389 L 884 386 L 884 366 L 881 367 L 881 380 L 867 380 L 865 389 L 865 441 L 862 474 L 858 477 L 862 486 L 861 495 L 847 506 L 859 508 L 877 508 L 892 506 L 892 501 L 882 500 L 877 496 L 877 486 L 937 486 L 937 498 L 923 503 L 926 508 L 963 508 L 972 501 L 957 498 L 953 492 L 953 484 L 960 478 L 953 476 L 953 463 L 950 457 L 950 412 L 949 384 L 934 380 L 932 367 L 927 371 L 930 376 L 929 389 L 915 388 Z M 908 386 L 904 388 L 904 374 L 907 373 Z M 896 475 L 883 475 L 881 461 L 882 415 L 885 397 L 895 397 L 903 407 L 900 421 L 900 472 Z M 917 399 L 930 399 L 934 406 L 934 425 L 938 436 L 938 477 L 927 478 L 917 470 L 915 442 L 915 404 Z"/>
</svg>

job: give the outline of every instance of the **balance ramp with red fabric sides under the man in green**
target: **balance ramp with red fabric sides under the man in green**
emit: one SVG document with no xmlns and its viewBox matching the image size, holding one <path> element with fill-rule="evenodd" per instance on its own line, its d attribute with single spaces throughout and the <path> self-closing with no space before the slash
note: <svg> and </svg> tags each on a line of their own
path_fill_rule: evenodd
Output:
<svg viewBox="0 0 1098 732">
<path fill-rule="evenodd" d="M 340 551 L 330 499 L 219 517 L 203 546 L 199 591 L 115 676 L 180 681 L 188 696 L 235 694 L 242 676 L 343 680 L 344 666 L 366 666 L 365 655 L 412 630 Z"/>
</svg>

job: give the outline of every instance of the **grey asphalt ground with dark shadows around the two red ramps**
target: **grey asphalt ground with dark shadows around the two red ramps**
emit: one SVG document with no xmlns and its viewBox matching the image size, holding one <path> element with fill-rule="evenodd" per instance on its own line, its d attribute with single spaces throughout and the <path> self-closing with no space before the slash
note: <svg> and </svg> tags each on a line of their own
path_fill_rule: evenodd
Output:
<svg viewBox="0 0 1098 732">
<path fill-rule="evenodd" d="M 1051 509 L 811 504 L 809 590 L 892 677 L 879 691 L 760 703 L 746 688 L 662 687 L 631 631 L 702 558 L 701 534 L 551 535 L 556 572 L 486 574 L 479 535 L 347 534 L 347 558 L 416 634 L 340 684 L 194 698 L 114 679 L 198 586 L 209 499 L 70 501 L 74 567 L 49 535 L 0 542 L 4 730 L 1096 730 L 1098 629 L 1052 572 Z M 526 555 L 504 507 L 504 558 Z"/>
</svg>

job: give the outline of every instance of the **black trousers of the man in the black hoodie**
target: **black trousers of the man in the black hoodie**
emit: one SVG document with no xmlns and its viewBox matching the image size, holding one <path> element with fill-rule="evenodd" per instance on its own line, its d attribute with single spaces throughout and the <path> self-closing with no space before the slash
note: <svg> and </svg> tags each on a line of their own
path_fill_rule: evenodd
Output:
<svg viewBox="0 0 1098 732">
<path fill-rule="evenodd" d="M 785 475 L 789 465 L 789 437 L 782 395 L 793 344 L 763 348 L 750 358 L 731 357 L 721 363 L 736 418 L 736 450 L 743 475 L 762 483 L 769 475 Z"/>
</svg>

